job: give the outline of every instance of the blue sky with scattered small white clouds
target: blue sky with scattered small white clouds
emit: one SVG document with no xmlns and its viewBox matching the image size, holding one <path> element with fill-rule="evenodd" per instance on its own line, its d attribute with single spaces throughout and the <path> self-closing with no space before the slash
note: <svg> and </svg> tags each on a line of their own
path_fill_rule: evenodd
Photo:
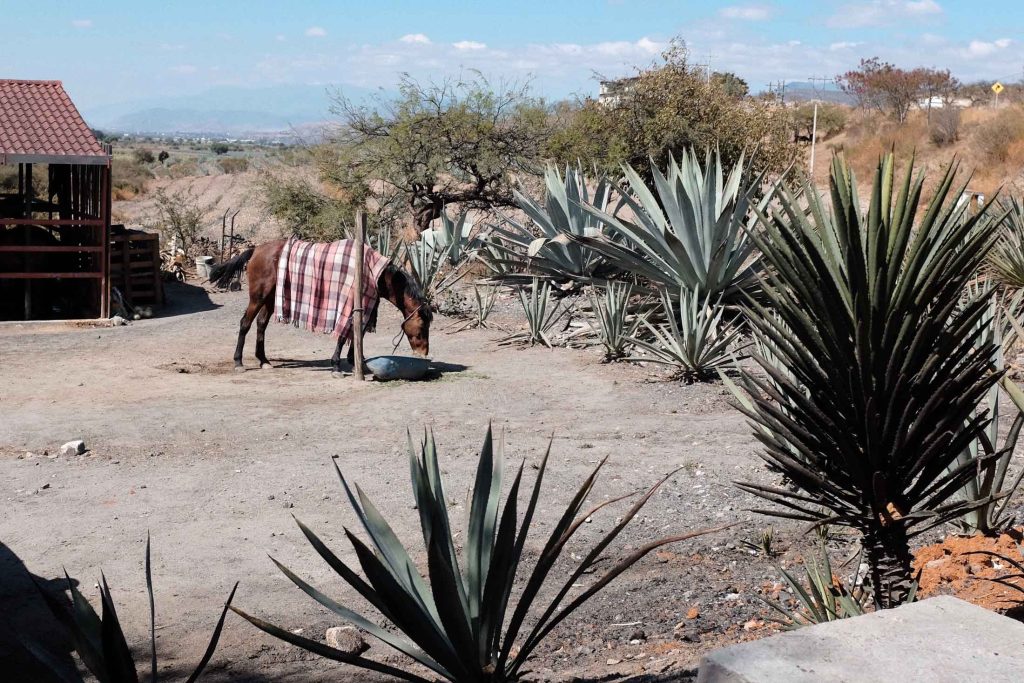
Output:
<svg viewBox="0 0 1024 683">
<path fill-rule="evenodd" d="M 596 90 L 682 37 L 697 62 L 759 90 L 862 56 L 1017 81 L 1020 0 L 329 2 L 0 0 L 0 77 L 65 81 L 84 106 L 216 86 L 393 85 L 479 69 L 548 96 Z"/>
</svg>

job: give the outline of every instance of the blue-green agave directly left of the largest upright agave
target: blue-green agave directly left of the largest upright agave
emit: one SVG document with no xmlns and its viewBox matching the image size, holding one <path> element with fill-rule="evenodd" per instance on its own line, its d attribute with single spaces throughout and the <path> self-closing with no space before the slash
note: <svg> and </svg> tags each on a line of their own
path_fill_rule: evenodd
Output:
<svg viewBox="0 0 1024 683">
<path fill-rule="evenodd" d="M 521 280 L 539 274 L 555 282 L 591 283 L 614 272 L 606 259 L 587 247 L 572 242 L 575 237 L 594 237 L 601 231 L 601 221 L 588 211 L 604 212 L 611 201 L 613 186 L 599 176 L 593 193 L 587 186 L 582 167 L 565 168 L 565 175 L 554 166 L 544 173 L 544 204 L 515 191 L 516 205 L 527 221 L 503 216 L 492 232 L 502 238 L 485 258 L 493 269 L 504 269 L 503 280 Z M 538 236 L 540 233 L 540 236 Z"/>
</svg>

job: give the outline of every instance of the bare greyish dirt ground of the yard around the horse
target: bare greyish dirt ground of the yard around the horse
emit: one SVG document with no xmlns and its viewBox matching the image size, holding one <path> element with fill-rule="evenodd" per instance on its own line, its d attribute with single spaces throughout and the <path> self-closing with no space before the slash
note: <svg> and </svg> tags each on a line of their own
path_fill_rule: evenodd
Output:
<svg viewBox="0 0 1024 683">
<path fill-rule="evenodd" d="M 738 523 L 642 560 L 555 631 L 532 667 L 537 679 L 687 680 L 708 650 L 773 632 L 756 595 L 777 593 L 778 572 L 742 541 L 773 526 L 782 563 L 798 560 L 810 541 L 798 524 L 749 512 L 757 501 L 731 485 L 772 475 L 721 385 L 658 381 L 650 369 L 603 365 L 596 350 L 498 347 L 501 332 L 445 334 L 442 316 L 431 334 L 440 376 L 429 382 L 332 378 L 332 340 L 275 324 L 267 351 L 276 368 L 256 370 L 251 337 L 247 371 L 237 373 L 230 356 L 245 295 L 194 286 L 168 294 L 172 303 L 160 317 L 127 327 L 0 326 L 0 584 L 7 587 L 0 601 L 14 605 L 13 628 L 48 628 L 31 584 L 13 579 L 23 564 L 51 585 L 67 568 L 94 603 L 102 569 L 129 641 L 144 656 L 150 532 L 162 670 L 180 672 L 199 659 L 234 581 L 239 607 L 323 638 L 337 620 L 267 555 L 341 602 L 362 606 L 292 520 L 354 562 L 343 526 L 356 522 L 332 457 L 420 561 L 407 429 L 434 430 L 454 523 L 462 527 L 476 454 L 493 421 L 505 433 L 509 468 L 522 458 L 537 463 L 554 435 L 528 561 L 605 456 L 595 502 L 682 468 L 609 559 L 660 536 Z M 381 310 L 369 354 L 390 351 L 400 322 L 392 308 Z M 76 438 L 85 440 L 85 455 L 56 455 Z M 585 524 L 571 555 L 581 557 L 623 509 Z M 371 645 L 369 655 L 400 661 Z M 232 614 L 209 680 L 377 679 L 281 643 Z"/>
</svg>

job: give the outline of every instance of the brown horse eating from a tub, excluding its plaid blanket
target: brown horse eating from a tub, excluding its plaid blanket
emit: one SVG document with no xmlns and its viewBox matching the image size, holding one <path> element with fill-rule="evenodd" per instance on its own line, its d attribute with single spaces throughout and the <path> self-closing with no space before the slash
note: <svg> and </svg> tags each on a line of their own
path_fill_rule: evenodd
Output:
<svg viewBox="0 0 1024 683">
<path fill-rule="evenodd" d="M 246 267 L 246 264 L 249 265 L 249 305 L 246 307 L 246 312 L 242 314 L 242 322 L 239 325 L 239 343 L 234 347 L 236 370 L 243 369 L 242 349 L 246 343 L 246 334 L 252 327 L 254 319 L 256 321 L 256 359 L 259 360 L 260 368 L 272 368 L 270 361 L 266 359 L 263 339 L 270 316 L 273 315 L 273 295 L 278 288 L 278 260 L 281 258 L 285 242 L 285 240 L 265 242 L 252 249 L 247 249 L 234 258 L 224 261 L 210 270 L 210 282 L 216 283 L 220 287 L 227 287 L 230 281 Z M 389 263 L 377 281 L 377 292 L 380 298 L 387 299 L 401 311 L 404 317 L 401 330 L 409 338 L 409 345 L 413 347 L 413 351 L 419 355 L 427 355 L 430 352 L 430 321 L 433 314 L 430 310 L 430 304 L 423 298 L 416 282 L 393 263 Z M 376 308 L 367 317 L 365 330 L 373 330 L 377 319 Z M 331 356 L 331 368 L 335 372 L 341 371 L 341 347 L 344 346 L 345 341 L 347 341 L 345 337 L 338 337 L 338 346 L 334 350 L 334 355 Z M 349 344 L 349 364 L 353 360 L 352 356 L 353 349 Z"/>
</svg>

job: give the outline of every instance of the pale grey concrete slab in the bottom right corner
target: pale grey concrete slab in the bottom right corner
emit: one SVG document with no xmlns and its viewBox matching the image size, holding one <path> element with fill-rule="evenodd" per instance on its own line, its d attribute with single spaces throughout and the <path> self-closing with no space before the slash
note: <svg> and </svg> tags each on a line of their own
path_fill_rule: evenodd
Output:
<svg viewBox="0 0 1024 683">
<path fill-rule="evenodd" d="M 953 597 L 716 650 L 697 683 L 1018 683 L 1024 624 Z"/>
</svg>

